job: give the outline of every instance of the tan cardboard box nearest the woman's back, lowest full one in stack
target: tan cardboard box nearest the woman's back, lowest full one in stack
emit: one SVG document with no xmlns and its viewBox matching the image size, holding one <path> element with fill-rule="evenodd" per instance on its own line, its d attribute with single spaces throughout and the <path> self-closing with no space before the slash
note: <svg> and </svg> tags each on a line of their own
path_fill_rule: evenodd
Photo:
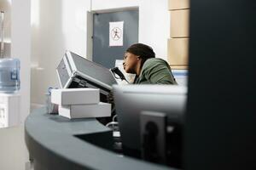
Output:
<svg viewBox="0 0 256 170">
<path fill-rule="evenodd" d="M 168 62 L 172 65 L 188 65 L 189 38 L 168 39 Z"/>
</svg>

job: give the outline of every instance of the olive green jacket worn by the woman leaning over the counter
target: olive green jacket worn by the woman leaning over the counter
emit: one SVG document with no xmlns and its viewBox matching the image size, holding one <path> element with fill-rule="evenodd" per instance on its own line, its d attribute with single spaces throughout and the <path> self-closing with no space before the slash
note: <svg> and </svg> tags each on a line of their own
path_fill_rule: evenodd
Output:
<svg viewBox="0 0 256 170">
<path fill-rule="evenodd" d="M 147 59 L 134 84 L 177 84 L 168 63 L 164 59 Z"/>
</svg>

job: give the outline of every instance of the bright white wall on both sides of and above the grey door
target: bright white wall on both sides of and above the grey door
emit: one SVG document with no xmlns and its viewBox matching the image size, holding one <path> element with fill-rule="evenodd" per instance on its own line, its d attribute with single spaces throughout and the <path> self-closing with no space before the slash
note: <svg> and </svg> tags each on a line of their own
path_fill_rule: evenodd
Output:
<svg viewBox="0 0 256 170">
<path fill-rule="evenodd" d="M 139 7 L 139 42 L 167 59 L 170 16 L 167 0 L 33 0 L 32 103 L 44 104 L 44 93 L 57 87 L 55 67 L 65 50 L 86 57 L 87 11 Z M 90 46 L 88 46 L 90 47 Z M 88 53 L 90 54 L 90 53 Z"/>
</svg>

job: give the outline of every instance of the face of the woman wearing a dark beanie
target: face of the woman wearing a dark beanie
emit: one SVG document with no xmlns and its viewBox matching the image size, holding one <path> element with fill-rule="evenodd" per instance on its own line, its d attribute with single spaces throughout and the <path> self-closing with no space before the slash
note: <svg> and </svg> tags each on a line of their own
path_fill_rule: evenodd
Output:
<svg viewBox="0 0 256 170">
<path fill-rule="evenodd" d="M 123 63 L 125 72 L 135 74 L 138 61 L 139 59 L 137 55 L 126 52 Z"/>
</svg>

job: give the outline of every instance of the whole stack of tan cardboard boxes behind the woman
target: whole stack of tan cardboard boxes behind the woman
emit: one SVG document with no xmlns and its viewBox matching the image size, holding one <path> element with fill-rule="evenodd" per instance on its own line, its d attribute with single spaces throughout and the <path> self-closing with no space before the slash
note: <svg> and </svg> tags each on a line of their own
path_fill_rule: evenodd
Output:
<svg viewBox="0 0 256 170">
<path fill-rule="evenodd" d="M 189 0 L 169 0 L 171 38 L 168 62 L 172 69 L 187 69 L 189 60 Z"/>
</svg>

